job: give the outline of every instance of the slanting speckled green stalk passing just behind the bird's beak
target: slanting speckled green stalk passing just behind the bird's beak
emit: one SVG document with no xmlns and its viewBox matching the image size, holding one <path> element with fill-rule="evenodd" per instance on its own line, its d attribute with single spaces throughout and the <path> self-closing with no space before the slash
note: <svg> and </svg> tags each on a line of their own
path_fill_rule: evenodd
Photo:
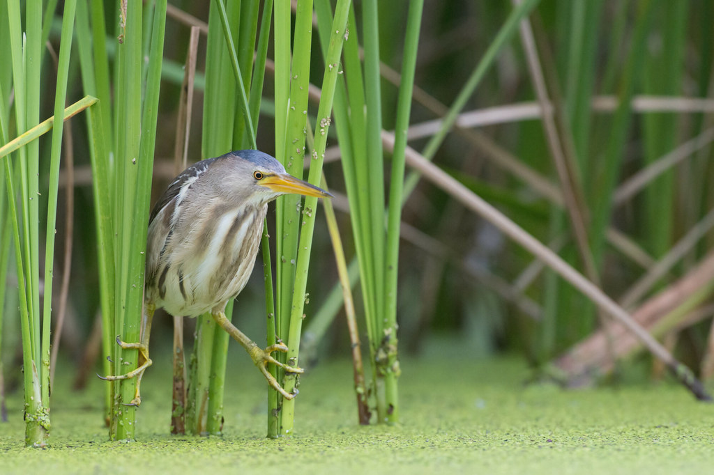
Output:
<svg viewBox="0 0 714 475">
<path fill-rule="evenodd" d="M 326 68 L 322 81 L 320 106 L 318 107 L 318 123 L 315 128 L 319 133 L 315 138 L 315 149 L 313 150 L 313 158 L 308 173 L 308 182 L 313 185 L 318 185 L 322 176 L 327 133 L 331 122 L 332 103 L 335 96 L 338 72 L 341 71 L 340 57 L 346 36 L 347 16 L 350 3 L 349 0 L 338 0 L 335 7 L 335 16 L 332 21 L 332 28 L 330 30 L 330 44 L 326 55 Z M 298 350 L 300 347 L 308 265 L 310 262 L 310 250 L 315 227 L 317 201 L 317 198 L 308 196 L 305 199 L 305 205 L 303 207 L 298 257 L 296 261 L 295 285 L 293 287 L 293 300 L 290 314 L 290 328 L 287 340 L 288 352 L 286 356 L 288 364 L 291 365 L 298 364 Z M 296 374 L 286 374 L 286 377 L 283 378 L 283 389 L 287 392 L 291 392 L 293 389 L 296 389 L 296 386 Z M 283 401 L 283 410 L 281 412 L 281 417 L 283 418 L 281 433 L 283 435 L 292 433 L 294 414 L 295 399 Z"/>
</svg>

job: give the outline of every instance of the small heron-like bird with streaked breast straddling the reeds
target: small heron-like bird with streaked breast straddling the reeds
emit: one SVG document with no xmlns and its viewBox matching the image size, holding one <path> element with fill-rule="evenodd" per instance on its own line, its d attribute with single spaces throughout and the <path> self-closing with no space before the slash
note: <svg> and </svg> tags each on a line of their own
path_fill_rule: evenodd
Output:
<svg viewBox="0 0 714 475">
<path fill-rule="evenodd" d="M 141 404 L 141 378 L 151 366 L 151 320 L 161 307 L 174 316 L 210 312 L 246 349 L 268 384 L 286 399 L 295 397 L 267 369 L 275 364 L 286 372 L 303 372 L 271 355 L 288 347 L 281 342 L 259 347 L 225 315 L 226 304 L 243 290 L 253 271 L 268 203 L 287 193 L 332 196 L 288 174 L 276 158 L 259 150 L 201 160 L 183 170 L 161 195 L 149 215 L 140 341 L 116 337 L 121 348 L 139 350 L 139 363 L 126 374 L 99 376 L 108 381 L 136 377 L 136 393 L 127 405 Z"/>
</svg>

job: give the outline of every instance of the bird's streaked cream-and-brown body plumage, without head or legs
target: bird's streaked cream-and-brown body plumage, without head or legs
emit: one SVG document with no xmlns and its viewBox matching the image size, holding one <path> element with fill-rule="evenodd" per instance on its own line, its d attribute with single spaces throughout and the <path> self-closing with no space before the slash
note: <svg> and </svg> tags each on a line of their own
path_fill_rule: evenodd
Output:
<svg viewBox="0 0 714 475">
<path fill-rule="evenodd" d="M 227 188 L 230 162 L 226 154 L 187 168 L 151 213 L 145 297 L 171 315 L 195 317 L 225 305 L 243 290 L 253 270 L 263 229 L 255 223 L 262 223 L 268 201 L 278 193 L 266 189 L 250 200 L 241 193 L 245 187 Z M 226 167 L 218 175 L 226 180 L 220 186 L 206 180 L 209 165 Z"/>
</svg>

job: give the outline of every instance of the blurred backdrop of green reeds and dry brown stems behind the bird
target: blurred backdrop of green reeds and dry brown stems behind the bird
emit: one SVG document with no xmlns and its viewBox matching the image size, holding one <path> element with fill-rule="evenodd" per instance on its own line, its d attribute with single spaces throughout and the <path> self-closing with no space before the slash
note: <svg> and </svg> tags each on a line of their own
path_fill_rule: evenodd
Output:
<svg viewBox="0 0 714 475">
<path fill-rule="evenodd" d="M 106 2 L 108 11 L 111 4 Z M 208 19 L 209 2 L 171 4 L 199 22 Z M 431 121 L 442 117 L 453 104 L 512 8 L 506 1 L 426 1 L 416 69 L 418 91 L 411 113 L 411 148 L 422 150 L 436 133 L 438 127 Z M 402 57 L 406 2 L 383 1 L 379 9 L 383 126 L 391 130 L 397 92 L 394 83 L 398 83 L 393 71 L 398 71 Z M 359 9 L 357 16 L 360 21 Z M 59 36 L 60 21 L 56 16 L 52 22 L 51 43 Z M 714 239 L 710 217 L 714 206 L 714 100 L 709 98 L 712 24 L 714 4 L 706 0 L 543 0 L 530 16 L 533 48 L 524 47 L 528 32 L 521 31 L 508 41 L 468 99 L 460 126 L 434 157 L 440 168 L 553 247 L 626 310 L 635 315 L 646 313 L 650 320 L 643 325 L 705 378 L 712 371 L 713 351 L 710 290 L 714 272 L 705 259 Z M 115 29 L 109 20 L 106 26 L 108 31 Z M 6 32 L 0 29 L 0 44 L 5 41 Z M 313 42 L 317 51 L 316 35 Z M 154 200 L 175 175 L 172 154 L 187 46 L 188 26 L 169 16 Z M 189 161 L 201 155 L 205 48 L 205 36 L 201 36 Z M 271 54 L 272 46 L 268 58 Z M 49 56 L 46 61 L 51 61 Z M 311 82 L 318 84 L 321 56 L 313 54 L 312 61 Z M 0 67 L 0 83 L 8 84 L 9 75 L 10 68 Z M 40 117 L 46 118 L 52 114 L 54 88 L 49 86 L 54 80 L 51 74 L 43 80 L 48 87 L 42 88 Z M 257 143 L 274 155 L 272 80 L 267 73 Z M 84 95 L 76 62 L 71 63 L 69 85 L 71 103 Z M 10 88 L 2 90 L 7 94 Z M 66 133 L 74 139 L 74 237 L 60 352 L 61 360 L 76 367 L 77 374 L 94 377 L 102 356 L 99 333 L 92 337 L 99 292 L 84 121 L 74 119 L 71 132 L 68 128 Z M 336 137 L 330 138 L 330 145 L 338 146 Z M 41 176 L 45 176 L 49 137 L 41 139 L 40 150 Z M 345 213 L 343 175 L 334 159 L 339 154 L 329 152 L 325 172 L 337 195 L 334 203 L 350 260 L 355 251 L 350 216 Z M 641 177 L 643 170 L 658 173 L 633 185 L 633 178 Z M 66 245 L 66 173 L 63 165 L 58 276 Z M 272 211 L 268 216 L 274 219 Z M 398 297 L 402 354 L 471 358 L 508 352 L 522 355 L 535 369 L 548 369 L 548 363 L 560 355 L 583 351 L 578 353 L 580 362 L 587 363 L 583 367 L 558 363 L 565 372 L 564 380 L 573 384 L 610 372 L 610 357 L 635 354 L 636 344 L 625 342 L 620 348 L 620 339 L 615 337 L 610 338 L 609 346 L 574 348 L 602 329 L 607 317 L 599 315 L 587 298 L 552 271 L 540 268 L 532 255 L 488 221 L 428 180 L 419 181 L 402 219 Z M 274 229 L 274 223 L 269 225 Z M 9 245 L 2 242 L 2 247 Z M 21 381 L 16 275 L 10 266 L 2 312 L 6 391 Z M 320 213 L 308 282 L 306 329 L 337 281 Z M 363 315 L 358 288 L 357 313 Z M 58 282 L 54 292 L 60 289 Z M 241 329 L 256 341 L 263 341 L 265 332 L 263 292 L 260 266 L 256 265 L 235 305 Z M 59 293 L 56 295 L 55 302 L 59 302 Z M 663 295 L 669 300 L 662 300 L 654 309 L 645 307 Z M 171 320 L 157 314 L 152 351 L 169 351 L 171 329 Z M 186 330 L 188 345 L 190 329 Z M 342 312 L 318 340 L 311 364 L 333 355 L 348 357 Z M 638 361 L 645 363 L 645 371 L 651 368 L 654 374 L 661 374 L 649 359 Z"/>
</svg>

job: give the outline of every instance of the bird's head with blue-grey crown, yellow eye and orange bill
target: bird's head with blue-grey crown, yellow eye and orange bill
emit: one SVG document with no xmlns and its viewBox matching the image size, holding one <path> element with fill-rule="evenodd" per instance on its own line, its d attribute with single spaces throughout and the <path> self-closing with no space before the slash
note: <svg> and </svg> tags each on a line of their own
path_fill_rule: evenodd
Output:
<svg viewBox="0 0 714 475">
<path fill-rule="evenodd" d="M 332 196 L 325 190 L 289 175 L 285 167 L 275 158 L 258 150 L 237 150 L 228 155 L 231 159 L 231 175 L 245 199 L 258 203 L 268 203 L 280 195 L 298 195 L 326 198 Z M 225 156 L 225 155 L 224 155 Z"/>
</svg>

